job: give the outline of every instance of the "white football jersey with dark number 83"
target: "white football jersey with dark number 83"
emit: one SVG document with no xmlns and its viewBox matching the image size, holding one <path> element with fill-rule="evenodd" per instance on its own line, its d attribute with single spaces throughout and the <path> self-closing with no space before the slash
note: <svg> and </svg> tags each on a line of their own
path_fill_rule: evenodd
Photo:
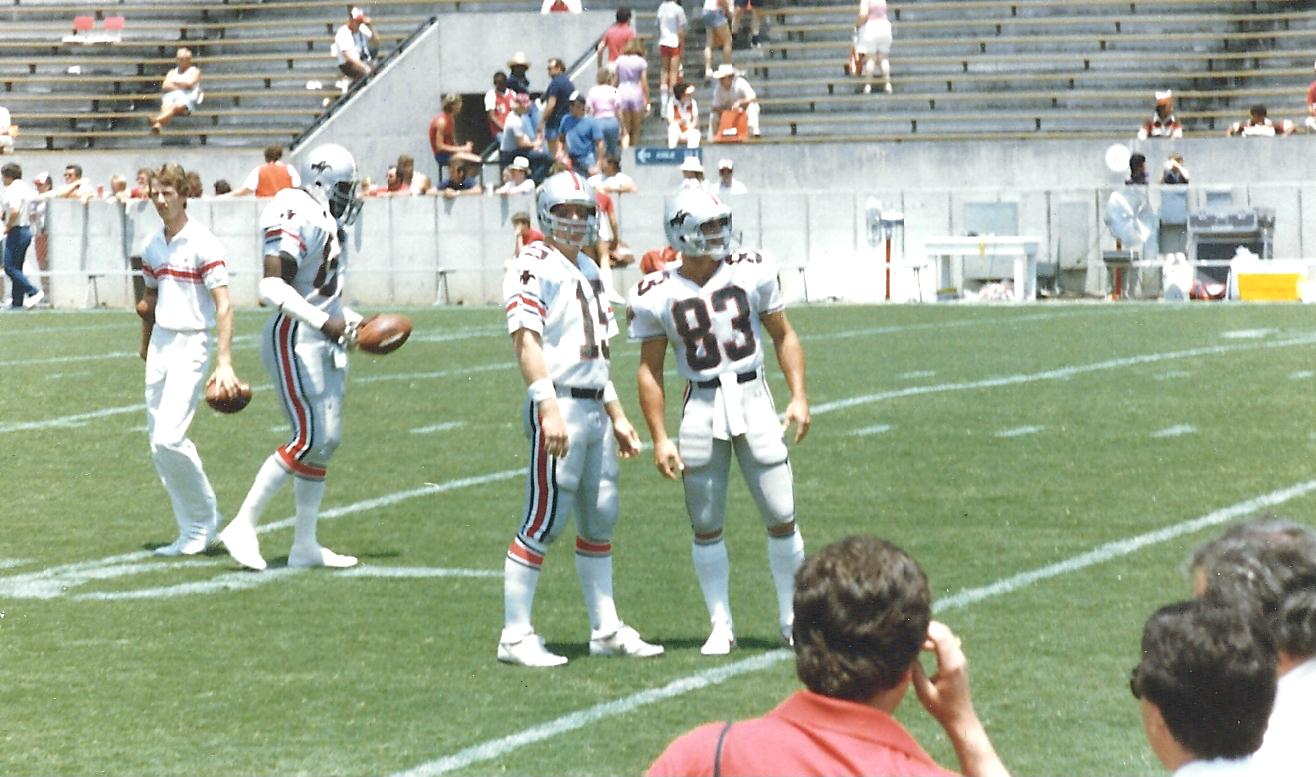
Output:
<svg viewBox="0 0 1316 777">
<path fill-rule="evenodd" d="M 667 338 L 676 370 L 699 382 L 763 366 L 759 319 L 782 308 L 776 259 L 742 249 L 724 258 L 703 286 L 679 267 L 645 275 L 630 290 L 626 317 L 630 340 Z"/>
</svg>

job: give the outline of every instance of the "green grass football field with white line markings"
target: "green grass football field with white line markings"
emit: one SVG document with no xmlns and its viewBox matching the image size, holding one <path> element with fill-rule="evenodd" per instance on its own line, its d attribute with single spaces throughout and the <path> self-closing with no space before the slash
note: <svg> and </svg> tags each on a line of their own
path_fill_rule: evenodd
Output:
<svg viewBox="0 0 1316 777">
<path fill-rule="evenodd" d="M 621 466 L 616 594 L 666 656 L 586 655 L 566 535 L 534 623 L 570 664 L 497 664 L 525 386 L 499 308 L 405 312 L 416 329 L 401 350 L 353 356 L 329 469 L 320 539 L 361 566 L 284 568 L 286 489 L 263 519 L 265 573 L 222 550 L 150 554 L 175 527 L 147 450 L 136 316 L 0 317 L 0 774 L 638 774 L 678 734 L 761 715 L 797 687 L 738 478 L 738 648 L 699 655 L 707 615 L 680 486 L 647 449 Z M 265 316 L 236 316 L 251 406 L 203 404 L 192 424 L 225 519 L 288 433 L 261 366 Z M 1163 773 L 1126 682 L 1144 620 L 1190 594 L 1183 560 L 1220 527 L 1262 511 L 1316 525 L 1312 309 L 790 317 L 813 411 L 791 449 L 807 549 L 869 532 L 919 560 L 1013 773 Z M 637 354 L 613 341 L 613 379 L 647 441 Z M 771 354 L 769 375 L 783 407 Z M 672 371 L 667 387 L 676 404 Z M 898 716 L 955 766 L 912 694 Z"/>
</svg>

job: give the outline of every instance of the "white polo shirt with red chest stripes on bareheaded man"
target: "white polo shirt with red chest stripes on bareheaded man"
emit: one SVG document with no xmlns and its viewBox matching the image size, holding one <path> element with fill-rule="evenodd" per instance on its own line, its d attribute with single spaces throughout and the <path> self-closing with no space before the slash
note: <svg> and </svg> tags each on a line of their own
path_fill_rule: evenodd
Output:
<svg viewBox="0 0 1316 777">
<path fill-rule="evenodd" d="M 211 290 L 229 284 L 224 245 L 196 219 L 188 219 L 170 241 L 162 229 L 142 250 L 142 283 L 157 290 L 157 327 L 174 332 L 213 329 Z"/>
</svg>

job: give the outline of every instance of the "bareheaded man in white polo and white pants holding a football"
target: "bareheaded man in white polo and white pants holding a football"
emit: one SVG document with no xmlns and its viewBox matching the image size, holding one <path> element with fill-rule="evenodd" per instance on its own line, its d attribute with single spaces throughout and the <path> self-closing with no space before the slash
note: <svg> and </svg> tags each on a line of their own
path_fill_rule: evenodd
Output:
<svg viewBox="0 0 1316 777">
<path fill-rule="evenodd" d="M 164 165 L 150 179 L 150 198 L 164 228 L 142 252 L 142 344 L 146 361 L 146 435 L 151 461 L 174 503 L 178 539 L 157 556 L 192 556 L 215 539 L 220 508 L 187 428 L 196 415 L 201 381 L 215 346 L 221 395 L 237 392 L 233 374 L 233 306 L 224 245 L 187 217 L 187 173 Z M 215 337 L 211 337 L 215 331 Z"/>
</svg>

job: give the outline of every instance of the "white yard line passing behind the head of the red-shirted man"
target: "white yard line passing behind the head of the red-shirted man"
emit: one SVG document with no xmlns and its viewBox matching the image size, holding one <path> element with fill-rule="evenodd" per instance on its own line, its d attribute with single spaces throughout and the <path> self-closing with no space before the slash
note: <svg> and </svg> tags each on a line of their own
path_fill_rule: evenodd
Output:
<svg viewBox="0 0 1316 777">
<path fill-rule="evenodd" d="M 970 604 L 982 602 L 983 599 L 991 599 L 995 597 L 1001 597 L 1005 594 L 1012 594 L 1033 583 L 1050 579 L 1053 577 L 1059 577 L 1063 574 L 1070 574 L 1079 572 L 1088 566 L 1095 566 L 1105 561 L 1119 558 L 1121 556 L 1128 556 L 1148 545 L 1154 545 L 1163 543 L 1166 540 L 1173 540 L 1182 535 L 1188 535 L 1204 528 L 1219 525 L 1233 520 L 1236 518 L 1244 518 L 1265 507 L 1274 507 L 1282 504 L 1298 496 L 1304 496 L 1316 491 L 1316 481 L 1307 481 L 1304 483 L 1296 483 L 1286 489 L 1279 489 L 1269 494 L 1262 494 L 1261 496 L 1254 496 L 1245 502 L 1238 502 L 1228 507 L 1216 510 L 1200 518 L 1171 524 L 1169 527 L 1146 532 L 1142 535 L 1136 535 L 1133 537 L 1126 537 L 1123 540 L 1115 540 L 1104 545 L 1099 545 L 1087 553 L 1080 553 L 1078 556 L 1071 556 L 1063 561 L 1055 564 L 1049 564 L 1038 569 L 1029 572 L 1023 572 L 1007 578 L 1001 578 L 991 585 L 980 586 L 976 589 L 965 589 L 958 594 L 953 594 L 944 599 L 933 602 L 933 612 L 942 612 L 945 610 L 958 610 L 967 607 Z M 740 661 L 719 666 L 716 669 L 705 669 L 704 672 L 697 672 L 695 674 L 686 676 L 679 680 L 674 680 L 662 687 L 642 690 L 640 693 L 630 694 L 628 697 L 621 697 L 608 702 L 601 702 L 594 705 L 592 707 L 586 707 L 547 723 L 541 723 L 520 734 L 513 734 L 509 736 L 503 736 L 499 739 L 491 739 L 488 741 L 461 749 L 453 755 L 443 756 L 441 759 L 420 764 L 404 772 L 397 772 L 393 777 L 432 777 L 437 774 L 446 774 L 455 769 L 470 766 L 471 764 L 478 764 L 482 761 L 488 761 L 496 759 L 501 755 L 509 753 L 515 749 L 525 747 L 528 744 L 534 744 L 537 741 L 544 741 L 551 739 L 559 734 L 567 734 L 578 728 L 583 728 L 591 723 L 612 718 L 616 715 L 624 715 L 632 710 L 637 710 L 646 705 L 654 702 L 661 702 L 669 698 L 675 698 L 686 693 L 709 687 L 725 682 L 740 674 L 747 674 L 750 672 L 757 672 L 759 669 L 767 669 L 775 664 L 792 658 L 794 652 L 784 648 L 776 648 L 769 651 L 767 653 L 761 653 L 750 658 L 742 658 Z"/>
</svg>

